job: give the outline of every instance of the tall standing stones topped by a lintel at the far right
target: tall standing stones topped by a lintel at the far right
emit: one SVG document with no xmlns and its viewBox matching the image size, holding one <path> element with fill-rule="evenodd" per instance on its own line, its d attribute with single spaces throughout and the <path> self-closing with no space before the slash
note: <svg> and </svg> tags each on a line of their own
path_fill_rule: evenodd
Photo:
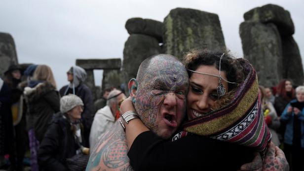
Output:
<svg viewBox="0 0 304 171">
<path fill-rule="evenodd" d="M 295 85 L 303 84 L 302 59 L 292 36 L 295 26 L 290 13 L 278 5 L 267 4 L 249 10 L 244 19 L 239 30 L 243 52 L 256 67 L 260 83 L 275 86 L 279 82 L 276 79 L 287 78 Z M 269 67 L 272 68 L 271 78 Z"/>
</svg>

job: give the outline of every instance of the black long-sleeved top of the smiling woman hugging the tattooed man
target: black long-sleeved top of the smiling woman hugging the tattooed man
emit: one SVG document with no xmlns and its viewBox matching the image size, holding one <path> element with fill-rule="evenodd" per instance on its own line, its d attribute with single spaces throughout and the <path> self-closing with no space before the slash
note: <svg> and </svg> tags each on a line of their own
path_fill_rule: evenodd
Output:
<svg viewBox="0 0 304 171">
<path fill-rule="evenodd" d="M 147 131 L 129 152 L 135 171 L 237 171 L 253 159 L 253 149 L 208 137 L 188 135 L 166 141 Z"/>
</svg>

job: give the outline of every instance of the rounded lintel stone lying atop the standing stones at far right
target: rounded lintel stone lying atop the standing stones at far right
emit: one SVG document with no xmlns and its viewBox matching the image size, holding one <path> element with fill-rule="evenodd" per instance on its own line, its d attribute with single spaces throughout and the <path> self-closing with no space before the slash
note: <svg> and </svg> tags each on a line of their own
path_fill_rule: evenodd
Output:
<svg viewBox="0 0 304 171">
<path fill-rule="evenodd" d="M 289 11 L 278 5 L 267 4 L 262 7 L 253 8 L 244 14 L 244 19 L 262 23 L 273 23 L 282 35 L 292 35 L 295 33 L 295 26 Z"/>
</svg>

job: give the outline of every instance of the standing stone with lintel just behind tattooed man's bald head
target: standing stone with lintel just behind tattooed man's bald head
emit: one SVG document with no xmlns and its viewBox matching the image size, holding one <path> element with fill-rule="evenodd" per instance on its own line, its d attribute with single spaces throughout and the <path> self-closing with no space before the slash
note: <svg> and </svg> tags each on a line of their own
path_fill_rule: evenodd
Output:
<svg viewBox="0 0 304 171">
<path fill-rule="evenodd" d="M 162 53 L 162 23 L 151 19 L 131 18 L 125 28 L 130 36 L 124 44 L 122 80 L 125 85 L 136 78 L 140 64 L 148 57 Z"/>
</svg>

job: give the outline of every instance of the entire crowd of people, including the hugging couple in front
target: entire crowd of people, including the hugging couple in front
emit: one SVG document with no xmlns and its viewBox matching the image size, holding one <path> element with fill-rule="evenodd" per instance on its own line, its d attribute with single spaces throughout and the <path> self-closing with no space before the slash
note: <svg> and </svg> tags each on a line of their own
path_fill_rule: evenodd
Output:
<svg viewBox="0 0 304 171">
<path fill-rule="evenodd" d="M 67 78 L 58 89 L 47 65 L 4 73 L 0 167 L 23 171 L 30 151 L 32 171 L 304 170 L 304 86 L 263 87 L 227 51 L 152 56 L 129 98 L 109 87 L 94 103 L 83 68 Z"/>
</svg>

